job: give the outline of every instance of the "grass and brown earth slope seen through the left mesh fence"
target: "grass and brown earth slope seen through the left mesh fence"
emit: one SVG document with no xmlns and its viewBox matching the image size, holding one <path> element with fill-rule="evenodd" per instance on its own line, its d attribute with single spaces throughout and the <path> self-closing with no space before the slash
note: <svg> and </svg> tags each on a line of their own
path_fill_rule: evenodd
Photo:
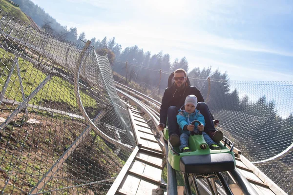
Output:
<svg viewBox="0 0 293 195">
<path fill-rule="evenodd" d="M 0 91 L 2 91 L 15 55 L 0 48 L 0 59 Z M 18 62 L 24 93 L 27 97 L 47 75 L 38 69 L 38 66 L 25 59 L 18 58 Z M 16 67 L 14 67 L 4 98 L 22 101 Z M 91 108 L 91 111 L 98 110 L 95 99 L 83 92 L 81 92 L 81 98 L 86 99 L 85 107 Z M 53 76 L 29 103 L 78 114 L 74 86 L 57 76 Z M 0 117 L 7 118 L 14 109 L 15 105 L 1 104 Z M 27 110 L 28 117 L 37 119 L 40 124 L 28 124 L 26 122 L 28 117 L 22 111 L 4 128 L 4 131 L 0 132 L 0 148 L 2 149 L 0 188 L 4 189 L 4 194 L 28 193 L 87 126 L 84 120 L 79 118 L 32 108 Z M 84 142 L 61 167 L 58 174 L 63 177 L 51 179 L 43 191 L 84 184 L 84 181 L 89 178 L 99 181 L 101 178 L 109 179 L 118 175 L 129 154 L 122 150 L 116 151 L 114 146 L 106 143 L 93 130 L 84 139 Z M 6 182 L 8 178 L 9 182 Z M 80 194 L 93 194 L 93 192 L 105 194 L 108 188 L 109 185 L 96 184 L 56 194 L 74 194 L 76 191 Z"/>
</svg>

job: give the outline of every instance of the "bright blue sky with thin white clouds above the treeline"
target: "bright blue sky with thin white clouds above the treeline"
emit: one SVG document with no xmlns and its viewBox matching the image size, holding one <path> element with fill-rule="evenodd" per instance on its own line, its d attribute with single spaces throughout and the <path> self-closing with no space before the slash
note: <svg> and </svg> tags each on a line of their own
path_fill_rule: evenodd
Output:
<svg viewBox="0 0 293 195">
<path fill-rule="evenodd" d="M 62 25 L 231 80 L 293 81 L 291 0 L 32 0 Z"/>
</svg>

